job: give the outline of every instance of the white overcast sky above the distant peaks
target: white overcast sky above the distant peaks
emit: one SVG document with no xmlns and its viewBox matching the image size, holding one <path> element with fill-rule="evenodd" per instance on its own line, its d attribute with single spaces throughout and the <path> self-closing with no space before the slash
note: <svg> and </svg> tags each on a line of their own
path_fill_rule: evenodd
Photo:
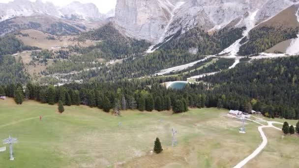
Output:
<svg viewBox="0 0 299 168">
<path fill-rule="evenodd" d="M 0 2 L 2 3 L 7 3 L 8 1 L 13 1 L 13 0 L 0 0 Z M 35 0 L 30 0 L 30 1 L 35 1 Z M 44 2 L 50 1 L 58 6 L 66 5 L 72 1 L 80 1 L 82 3 L 92 2 L 99 8 L 99 11 L 101 13 L 107 13 L 109 10 L 115 8 L 116 5 L 116 0 L 42 0 L 42 1 Z"/>
</svg>

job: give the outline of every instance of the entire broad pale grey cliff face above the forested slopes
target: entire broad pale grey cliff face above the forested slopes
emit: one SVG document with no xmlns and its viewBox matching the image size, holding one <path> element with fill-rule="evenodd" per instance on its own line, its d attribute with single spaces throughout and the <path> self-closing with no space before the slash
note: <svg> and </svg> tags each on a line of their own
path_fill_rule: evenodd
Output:
<svg viewBox="0 0 299 168">
<path fill-rule="evenodd" d="M 115 22 L 128 36 L 159 43 L 180 29 L 252 27 L 252 23 L 263 22 L 298 1 L 118 0 Z"/>
</svg>

